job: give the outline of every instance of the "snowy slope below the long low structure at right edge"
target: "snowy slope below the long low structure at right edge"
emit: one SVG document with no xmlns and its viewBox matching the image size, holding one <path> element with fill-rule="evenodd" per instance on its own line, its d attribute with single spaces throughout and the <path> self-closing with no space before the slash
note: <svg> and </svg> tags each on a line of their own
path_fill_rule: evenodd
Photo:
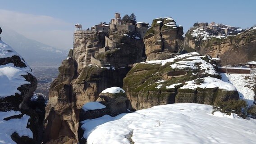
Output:
<svg viewBox="0 0 256 144">
<path fill-rule="evenodd" d="M 256 81 L 254 74 L 227 74 L 221 73 L 221 80 L 229 82 L 233 84 L 238 90 L 239 97 L 247 101 L 248 105 L 252 105 L 254 102 L 254 92 L 253 85 L 255 85 Z"/>
</svg>

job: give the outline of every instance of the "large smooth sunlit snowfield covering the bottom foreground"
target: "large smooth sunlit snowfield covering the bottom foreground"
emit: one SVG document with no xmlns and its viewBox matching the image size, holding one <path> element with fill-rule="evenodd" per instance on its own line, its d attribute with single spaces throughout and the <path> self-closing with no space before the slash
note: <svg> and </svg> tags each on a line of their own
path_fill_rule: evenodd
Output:
<svg viewBox="0 0 256 144">
<path fill-rule="evenodd" d="M 178 103 L 82 121 L 88 144 L 255 144 L 256 120 Z"/>
</svg>

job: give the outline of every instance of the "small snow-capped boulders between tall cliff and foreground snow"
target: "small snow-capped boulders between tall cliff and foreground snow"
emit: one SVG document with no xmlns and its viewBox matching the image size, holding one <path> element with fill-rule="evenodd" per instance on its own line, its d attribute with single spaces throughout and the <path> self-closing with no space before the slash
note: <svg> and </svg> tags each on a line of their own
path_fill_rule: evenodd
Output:
<svg viewBox="0 0 256 144">
<path fill-rule="evenodd" d="M 88 102 L 83 105 L 80 112 L 78 139 L 80 144 L 87 144 L 85 132 L 91 130 L 85 121 L 104 116 L 115 117 L 120 113 L 129 112 L 127 96 L 120 87 L 110 87 L 101 92 L 98 102 Z"/>
</svg>

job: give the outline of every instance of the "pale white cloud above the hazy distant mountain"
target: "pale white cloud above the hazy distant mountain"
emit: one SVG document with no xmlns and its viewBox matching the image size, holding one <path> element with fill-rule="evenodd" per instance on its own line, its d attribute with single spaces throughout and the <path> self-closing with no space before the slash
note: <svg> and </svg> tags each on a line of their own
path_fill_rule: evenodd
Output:
<svg viewBox="0 0 256 144">
<path fill-rule="evenodd" d="M 0 9 L 1 26 L 57 48 L 70 49 L 73 45 L 73 24 L 58 18 Z"/>
</svg>

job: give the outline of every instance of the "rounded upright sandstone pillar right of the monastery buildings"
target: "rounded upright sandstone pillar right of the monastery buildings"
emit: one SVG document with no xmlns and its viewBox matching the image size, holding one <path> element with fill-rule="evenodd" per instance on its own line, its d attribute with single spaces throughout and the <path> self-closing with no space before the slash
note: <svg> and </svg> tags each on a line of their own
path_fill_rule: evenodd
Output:
<svg viewBox="0 0 256 144">
<path fill-rule="evenodd" d="M 154 19 L 143 38 L 147 60 L 171 58 L 183 44 L 183 27 L 173 18 Z"/>
</svg>

